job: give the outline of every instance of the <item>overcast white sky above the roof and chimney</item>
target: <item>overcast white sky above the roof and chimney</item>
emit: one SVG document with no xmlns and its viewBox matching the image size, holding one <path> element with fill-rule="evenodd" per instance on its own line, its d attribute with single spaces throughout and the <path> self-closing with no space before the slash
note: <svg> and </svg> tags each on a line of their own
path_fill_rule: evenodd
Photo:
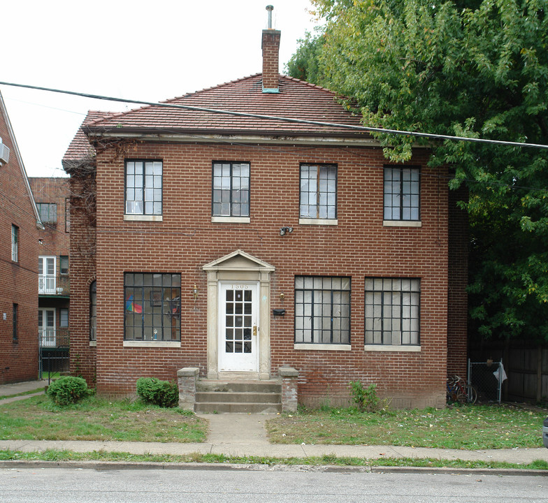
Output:
<svg viewBox="0 0 548 503">
<path fill-rule="evenodd" d="M 261 72 L 271 3 L 280 73 L 316 22 L 309 0 L 19 0 L 1 7 L 0 80 L 162 101 Z M 87 110 L 132 105 L 0 85 L 29 176 L 62 176 Z"/>
</svg>

